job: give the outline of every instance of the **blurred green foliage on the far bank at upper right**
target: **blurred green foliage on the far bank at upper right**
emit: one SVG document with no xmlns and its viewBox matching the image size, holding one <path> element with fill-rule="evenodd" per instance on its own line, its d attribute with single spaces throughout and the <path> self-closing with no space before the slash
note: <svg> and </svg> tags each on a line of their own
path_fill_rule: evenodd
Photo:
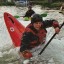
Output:
<svg viewBox="0 0 64 64">
<path fill-rule="evenodd" d="M 64 0 L 39 0 L 39 1 L 35 1 L 35 0 L 31 0 L 30 1 L 31 5 L 37 4 L 37 5 L 41 5 L 42 8 L 56 8 L 59 9 L 61 7 L 62 4 L 64 4 Z"/>
</svg>

